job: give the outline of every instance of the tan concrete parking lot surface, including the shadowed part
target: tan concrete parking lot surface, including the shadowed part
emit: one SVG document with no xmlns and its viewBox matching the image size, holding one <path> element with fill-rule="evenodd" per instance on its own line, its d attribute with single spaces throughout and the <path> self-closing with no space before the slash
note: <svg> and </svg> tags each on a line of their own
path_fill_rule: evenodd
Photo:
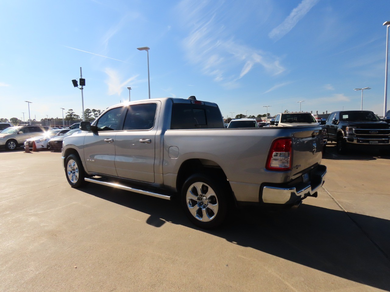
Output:
<svg viewBox="0 0 390 292">
<path fill-rule="evenodd" d="M 176 202 L 71 188 L 58 152 L 0 151 L 0 291 L 390 291 L 390 157 L 334 145 L 317 198 L 211 231 Z"/>
</svg>

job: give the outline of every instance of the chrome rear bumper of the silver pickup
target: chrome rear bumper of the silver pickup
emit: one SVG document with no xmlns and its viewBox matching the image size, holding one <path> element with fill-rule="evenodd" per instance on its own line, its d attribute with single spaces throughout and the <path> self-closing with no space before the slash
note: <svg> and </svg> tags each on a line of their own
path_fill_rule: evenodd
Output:
<svg viewBox="0 0 390 292">
<path fill-rule="evenodd" d="M 317 197 L 317 190 L 324 184 L 325 176 L 326 166 L 319 165 L 295 185 L 264 184 L 260 189 L 260 202 L 294 205 L 307 197 Z"/>
</svg>

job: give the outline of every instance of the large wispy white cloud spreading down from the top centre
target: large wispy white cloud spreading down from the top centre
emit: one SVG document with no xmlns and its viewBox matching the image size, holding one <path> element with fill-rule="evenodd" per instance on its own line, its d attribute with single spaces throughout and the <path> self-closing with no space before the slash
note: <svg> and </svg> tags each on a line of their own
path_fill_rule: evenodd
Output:
<svg viewBox="0 0 390 292">
<path fill-rule="evenodd" d="M 177 6 L 182 26 L 189 30 L 183 40 L 188 61 L 200 66 L 203 74 L 229 88 L 238 86 L 234 83 L 256 65 L 261 65 L 271 75 L 283 72 L 285 69 L 276 56 L 240 44 L 227 35 L 218 18 L 223 14 L 223 5 L 227 4 L 222 1 L 195 3 L 183 0 Z"/>
</svg>

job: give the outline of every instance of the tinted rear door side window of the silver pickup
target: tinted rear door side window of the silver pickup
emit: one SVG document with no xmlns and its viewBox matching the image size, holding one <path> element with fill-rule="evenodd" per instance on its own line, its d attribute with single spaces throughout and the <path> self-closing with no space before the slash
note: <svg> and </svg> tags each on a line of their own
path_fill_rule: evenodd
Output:
<svg viewBox="0 0 390 292">
<path fill-rule="evenodd" d="M 153 128 L 156 110 L 156 103 L 129 106 L 123 130 L 149 130 Z"/>
</svg>

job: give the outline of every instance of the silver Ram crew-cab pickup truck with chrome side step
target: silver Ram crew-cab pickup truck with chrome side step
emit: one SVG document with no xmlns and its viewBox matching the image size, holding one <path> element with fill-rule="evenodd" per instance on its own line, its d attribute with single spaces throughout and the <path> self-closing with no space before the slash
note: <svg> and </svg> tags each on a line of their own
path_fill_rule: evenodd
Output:
<svg viewBox="0 0 390 292">
<path fill-rule="evenodd" d="M 88 182 L 170 200 L 202 228 L 243 205 L 299 206 L 324 183 L 321 127 L 225 128 L 211 102 L 118 104 L 66 137 L 69 184 Z"/>
</svg>

